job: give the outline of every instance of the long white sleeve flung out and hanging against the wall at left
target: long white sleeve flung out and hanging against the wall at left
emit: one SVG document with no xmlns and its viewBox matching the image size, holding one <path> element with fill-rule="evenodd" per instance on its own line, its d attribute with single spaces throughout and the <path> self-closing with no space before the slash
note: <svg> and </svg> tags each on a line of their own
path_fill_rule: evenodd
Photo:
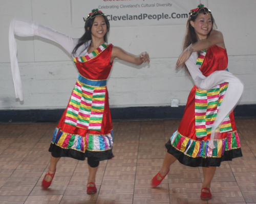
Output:
<svg viewBox="0 0 256 204">
<path fill-rule="evenodd" d="M 20 79 L 20 73 L 17 61 L 17 44 L 14 38 L 14 34 L 21 37 L 27 36 L 40 36 L 49 40 L 52 40 L 60 44 L 67 52 L 72 55 L 72 51 L 77 44 L 78 39 L 71 38 L 70 36 L 64 35 L 57 31 L 54 31 L 43 25 L 38 25 L 34 22 L 25 20 L 13 19 L 10 23 L 9 28 L 9 49 L 10 49 L 10 60 L 12 69 L 12 78 L 15 90 L 16 98 L 20 101 L 23 100 L 22 80 Z"/>
</svg>

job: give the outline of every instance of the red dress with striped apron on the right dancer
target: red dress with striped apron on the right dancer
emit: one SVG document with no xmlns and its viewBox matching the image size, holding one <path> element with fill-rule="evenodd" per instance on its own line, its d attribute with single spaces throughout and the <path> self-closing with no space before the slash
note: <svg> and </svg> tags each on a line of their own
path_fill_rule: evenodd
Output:
<svg viewBox="0 0 256 204">
<path fill-rule="evenodd" d="M 214 45 L 198 61 L 201 61 L 200 70 L 206 77 L 214 71 L 225 70 L 228 63 L 226 49 Z M 216 130 L 219 134 L 214 139 L 215 148 L 208 146 L 211 124 L 218 115 L 218 107 L 226 89 L 228 83 L 211 90 L 198 89 L 196 86 L 191 89 L 178 130 L 165 145 L 169 154 L 175 156 L 180 163 L 191 167 L 220 166 L 222 161 L 242 157 L 233 112 Z"/>
</svg>

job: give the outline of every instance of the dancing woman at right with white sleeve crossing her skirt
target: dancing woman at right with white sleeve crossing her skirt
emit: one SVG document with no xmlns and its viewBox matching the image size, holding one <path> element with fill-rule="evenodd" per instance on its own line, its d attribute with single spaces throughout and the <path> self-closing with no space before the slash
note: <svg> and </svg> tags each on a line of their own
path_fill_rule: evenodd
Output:
<svg viewBox="0 0 256 204">
<path fill-rule="evenodd" d="M 184 51 L 176 66 L 186 64 L 195 86 L 191 89 L 178 130 L 165 144 L 167 151 L 160 171 L 152 179 L 157 187 L 176 160 L 203 167 L 201 199 L 211 198 L 210 184 L 222 161 L 242 157 L 232 110 L 243 84 L 229 73 L 223 35 L 211 11 L 203 5 L 189 13 Z M 199 54 L 199 55 L 198 55 Z"/>
</svg>

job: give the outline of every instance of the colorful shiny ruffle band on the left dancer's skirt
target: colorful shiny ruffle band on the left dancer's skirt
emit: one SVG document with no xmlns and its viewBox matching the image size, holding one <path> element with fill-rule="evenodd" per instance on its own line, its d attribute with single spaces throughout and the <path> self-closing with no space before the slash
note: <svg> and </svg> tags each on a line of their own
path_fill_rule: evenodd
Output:
<svg viewBox="0 0 256 204">
<path fill-rule="evenodd" d="M 74 149 L 77 151 L 105 151 L 112 149 L 113 131 L 107 135 L 92 135 L 87 133 L 86 137 L 65 133 L 55 129 L 52 143 L 63 149 Z"/>
</svg>

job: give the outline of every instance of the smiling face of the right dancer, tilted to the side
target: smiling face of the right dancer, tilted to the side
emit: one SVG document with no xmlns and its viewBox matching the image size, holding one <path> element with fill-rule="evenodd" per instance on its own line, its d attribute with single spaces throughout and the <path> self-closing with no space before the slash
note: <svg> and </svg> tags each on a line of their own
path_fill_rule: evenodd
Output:
<svg viewBox="0 0 256 204">
<path fill-rule="evenodd" d="M 191 20 L 190 24 L 194 27 L 199 40 L 206 39 L 212 28 L 211 15 L 199 13 L 196 20 Z"/>
</svg>

